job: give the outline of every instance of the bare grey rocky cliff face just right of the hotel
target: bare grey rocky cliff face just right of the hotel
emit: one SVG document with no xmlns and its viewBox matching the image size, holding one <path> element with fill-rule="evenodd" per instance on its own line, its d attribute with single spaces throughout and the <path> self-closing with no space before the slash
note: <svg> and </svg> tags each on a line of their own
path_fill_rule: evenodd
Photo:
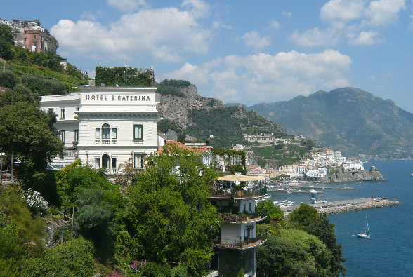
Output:
<svg viewBox="0 0 413 277">
<path fill-rule="evenodd" d="M 197 92 L 197 87 L 190 85 L 181 88 L 184 97 L 176 95 L 162 95 L 158 110 L 164 114 L 164 119 L 169 119 L 179 124 L 182 128 L 192 126 L 193 122 L 188 117 L 191 109 L 216 109 L 223 107 L 221 100 L 202 97 Z"/>
</svg>

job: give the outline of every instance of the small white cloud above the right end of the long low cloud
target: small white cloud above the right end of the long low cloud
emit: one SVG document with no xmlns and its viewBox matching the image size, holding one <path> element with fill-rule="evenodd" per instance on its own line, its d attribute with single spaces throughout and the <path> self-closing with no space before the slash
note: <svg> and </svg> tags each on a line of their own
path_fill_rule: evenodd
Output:
<svg viewBox="0 0 413 277">
<path fill-rule="evenodd" d="M 317 27 L 314 29 L 308 29 L 303 34 L 300 34 L 299 31 L 295 30 L 289 40 L 301 45 L 301 46 L 326 46 L 326 45 L 335 45 L 339 40 L 340 34 L 336 32 L 335 29 L 324 29 L 319 30 Z"/>
</svg>

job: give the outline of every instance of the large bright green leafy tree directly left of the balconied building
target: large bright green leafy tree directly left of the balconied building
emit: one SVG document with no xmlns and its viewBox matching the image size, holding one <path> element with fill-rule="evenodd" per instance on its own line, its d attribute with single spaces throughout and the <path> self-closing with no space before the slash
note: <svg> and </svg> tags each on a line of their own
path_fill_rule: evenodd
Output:
<svg viewBox="0 0 413 277">
<path fill-rule="evenodd" d="M 214 169 L 202 156 L 151 155 L 147 168 L 129 188 L 118 245 L 124 255 L 159 264 L 181 262 L 189 274 L 204 275 L 213 255 L 209 238 L 219 229 L 216 208 L 208 201 Z"/>
</svg>

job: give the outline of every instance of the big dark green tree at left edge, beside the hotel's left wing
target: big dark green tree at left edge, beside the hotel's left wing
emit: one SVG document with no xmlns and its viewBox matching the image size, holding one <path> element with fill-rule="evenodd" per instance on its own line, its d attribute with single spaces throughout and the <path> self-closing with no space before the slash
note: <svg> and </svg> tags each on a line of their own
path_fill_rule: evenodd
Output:
<svg viewBox="0 0 413 277">
<path fill-rule="evenodd" d="M 47 163 L 63 153 L 63 142 L 53 128 L 55 116 L 41 111 L 38 102 L 21 101 L 27 97 L 24 91 L 15 90 L 8 95 L 11 98 L 0 98 L 0 147 L 20 159 L 20 175 L 29 180 L 34 172 L 44 170 Z"/>
</svg>

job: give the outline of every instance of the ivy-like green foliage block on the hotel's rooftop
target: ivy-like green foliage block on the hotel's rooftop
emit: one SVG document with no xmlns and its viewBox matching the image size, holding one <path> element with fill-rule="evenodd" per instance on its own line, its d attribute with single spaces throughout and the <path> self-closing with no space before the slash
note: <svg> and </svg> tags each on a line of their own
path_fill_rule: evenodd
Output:
<svg viewBox="0 0 413 277">
<path fill-rule="evenodd" d="M 135 86 L 150 87 L 155 85 L 153 69 L 133 67 L 96 67 L 95 83 L 100 86 Z"/>
</svg>

